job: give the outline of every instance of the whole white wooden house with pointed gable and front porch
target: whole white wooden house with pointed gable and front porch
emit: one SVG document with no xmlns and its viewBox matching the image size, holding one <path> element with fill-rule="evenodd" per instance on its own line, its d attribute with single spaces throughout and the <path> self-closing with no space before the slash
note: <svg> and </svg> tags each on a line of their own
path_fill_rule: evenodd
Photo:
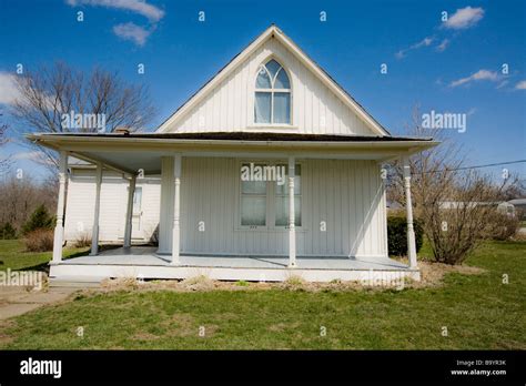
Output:
<svg viewBox="0 0 526 386">
<path fill-rule="evenodd" d="M 61 154 L 55 280 L 419 277 L 407 163 L 409 266 L 381 170 L 436 142 L 392 136 L 274 26 L 153 133 L 30 138 Z M 92 254 L 62 260 L 83 232 Z"/>
</svg>

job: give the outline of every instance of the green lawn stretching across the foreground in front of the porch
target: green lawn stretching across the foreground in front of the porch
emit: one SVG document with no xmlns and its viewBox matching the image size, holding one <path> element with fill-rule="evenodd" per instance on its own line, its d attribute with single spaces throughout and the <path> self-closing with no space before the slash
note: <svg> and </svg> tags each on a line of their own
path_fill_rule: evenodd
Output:
<svg viewBox="0 0 526 386">
<path fill-rule="evenodd" d="M 443 286 L 399 292 L 78 296 L 4 322 L 0 348 L 526 349 L 526 243 L 487 243 L 467 263 L 487 272 L 448 274 Z M 75 334 L 80 326 L 83 337 Z"/>
</svg>

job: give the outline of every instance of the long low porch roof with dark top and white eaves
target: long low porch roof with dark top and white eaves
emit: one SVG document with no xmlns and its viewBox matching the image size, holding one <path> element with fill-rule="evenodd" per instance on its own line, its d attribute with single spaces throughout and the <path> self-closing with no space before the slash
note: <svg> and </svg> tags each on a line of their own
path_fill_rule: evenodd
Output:
<svg viewBox="0 0 526 386">
<path fill-rule="evenodd" d="M 161 156 L 354 159 L 388 161 L 433 148 L 431 138 L 302 134 L 279 132 L 202 133 L 36 133 L 43 146 L 69 151 L 78 159 L 134 174 L 156 174 Z"/>
</svg>

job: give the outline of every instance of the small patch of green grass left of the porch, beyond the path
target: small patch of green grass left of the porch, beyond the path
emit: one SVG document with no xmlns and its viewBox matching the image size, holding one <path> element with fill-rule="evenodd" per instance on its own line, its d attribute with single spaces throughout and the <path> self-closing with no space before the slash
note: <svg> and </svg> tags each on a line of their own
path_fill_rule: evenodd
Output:
<svg viewBox="0 0 526 386">
<path fill-rule="evenodd" d="M 64 258 L 84 255 L 88 248 L 64 248 Z M 45 270 L 52 252 L 26 252 L 20 240 L 0 240 L 0 271 Z"/>
</svg>

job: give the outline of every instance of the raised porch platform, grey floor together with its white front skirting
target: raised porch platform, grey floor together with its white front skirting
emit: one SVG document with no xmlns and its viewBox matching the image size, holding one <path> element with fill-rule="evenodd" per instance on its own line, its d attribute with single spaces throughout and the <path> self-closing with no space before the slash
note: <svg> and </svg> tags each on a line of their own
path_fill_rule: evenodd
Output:
<svg viewBox="0 0 526 386">
<path fill-rule="evenodd" d="M 289 257 L 282 256 L 211 256 L 180 255 L 179 264 L 171 256 L 158 254 L 153 246 L 119 247 L 100 252 L 97 256 L 82 256 L 51 266 L 53 280 L 82 281 L 134 277 L 182 280 L 204 275 L 212 280 L 282 282 L 301 277 L 308 282 L 383 281 L 403 277 L 419 280 L 418 270 L 388 257 L 314 257 L 297 256 L 297 267 L 289 267 Z"/>
</svg>

